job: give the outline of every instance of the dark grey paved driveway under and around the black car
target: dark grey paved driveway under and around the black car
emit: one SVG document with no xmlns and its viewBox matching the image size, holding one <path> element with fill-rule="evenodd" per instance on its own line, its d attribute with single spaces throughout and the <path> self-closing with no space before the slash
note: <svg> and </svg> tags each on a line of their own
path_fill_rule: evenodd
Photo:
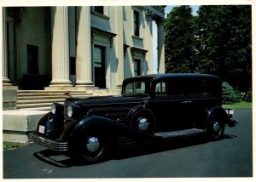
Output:
<svg viewBox="0 0 256 182">
<path fill-rule="evenodd" d="M 224 139 L 179 139 L 117 151 L 108 161 L 79 165 L 32 144 L 3 151 L 4 179 L 252 177 L 252 110 L 237 110 Z"/>
</svg>

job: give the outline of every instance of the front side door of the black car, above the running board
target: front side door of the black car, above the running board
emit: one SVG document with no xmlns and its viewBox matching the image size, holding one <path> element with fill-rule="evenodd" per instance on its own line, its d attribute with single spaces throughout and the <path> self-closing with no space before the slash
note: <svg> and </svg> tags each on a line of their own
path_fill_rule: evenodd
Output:
<svg viewBox="0 0 256 182">
<path fill-rule="evenodd" d="M 154 84 L 154 96 L 148 99 L 148 108 L 154 112 L 156 118 L 156 131 L 172 131 L 183 128 L 184 113 L 183 103 L 186 95 L 181 91 L 182 84 L 177 87 L 170 80 L 156 82 Z M 176 90 L 170 92 L 173 87 Z"/>
</svg>

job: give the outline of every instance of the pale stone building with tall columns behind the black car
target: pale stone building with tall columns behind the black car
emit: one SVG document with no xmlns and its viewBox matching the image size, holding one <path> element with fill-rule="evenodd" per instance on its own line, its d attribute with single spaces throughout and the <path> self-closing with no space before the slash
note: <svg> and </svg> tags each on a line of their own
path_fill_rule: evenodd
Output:
<svg viewBox="0 0 256 182">
<path fill-rule="evenodd" d="M 19 90 L 118 89 L 126 77 L 165 71 L 165 6 L 4 7 L 3 109 Z"/>
</svg>

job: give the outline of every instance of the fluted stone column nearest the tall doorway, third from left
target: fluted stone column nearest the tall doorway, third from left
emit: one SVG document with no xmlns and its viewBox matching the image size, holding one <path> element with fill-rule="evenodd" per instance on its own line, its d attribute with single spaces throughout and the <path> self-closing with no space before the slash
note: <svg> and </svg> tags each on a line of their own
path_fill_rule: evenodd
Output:
<svg viewBox="0 0 256 182">
<path fill-rule="evenodd" d="M 79 7 L 79 30 L 76 56 L 76 86 L 94 86 L 92 82 L 90 7 Z"/>
</svg>

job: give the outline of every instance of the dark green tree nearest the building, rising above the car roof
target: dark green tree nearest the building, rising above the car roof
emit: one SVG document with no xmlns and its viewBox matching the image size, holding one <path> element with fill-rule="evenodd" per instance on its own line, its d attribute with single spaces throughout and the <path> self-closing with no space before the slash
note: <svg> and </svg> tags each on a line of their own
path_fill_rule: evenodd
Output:
<svg viewBox="0 0 256 182">
<path fill-rule="evenodd" d="M 166 72 L 195 71 L 195 17 L 189 6 L 167 14 L 165 23 Z"/>
</svg>

